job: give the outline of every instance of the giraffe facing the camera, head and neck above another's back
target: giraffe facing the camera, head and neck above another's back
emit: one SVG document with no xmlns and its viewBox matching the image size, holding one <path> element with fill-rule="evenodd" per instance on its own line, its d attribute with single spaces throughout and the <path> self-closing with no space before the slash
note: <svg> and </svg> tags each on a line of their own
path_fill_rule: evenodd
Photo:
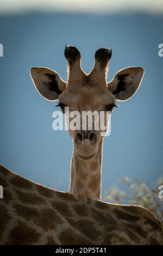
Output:
<svg viewBox="0 0 163 256">
<path fill-rule="evenodd" d="M 130 99 L 139 88 L 144 74 L 142 67 L 129 67 L 118 71 L 111 82 L 106 82 L 111 48 L 100 48 L 95 53 L 95 65 L 89 74 L 81 67 L 79 50 L 66 45 L 68 80 L 63 81 L 51 69 L 33 67 L 30 70 L 37 91 L 47 100 L 59 100 L 62 112 L 112 112 L 115 100 Z M 71 112 L 70 111 L 70 112 Z M 107 120 L 104 116 L 105 121 Z M 101 130 L 68 130 L 73 139 L 69 192 L 101 200 L 101 171 L 103 138 Z"/>
</svg>

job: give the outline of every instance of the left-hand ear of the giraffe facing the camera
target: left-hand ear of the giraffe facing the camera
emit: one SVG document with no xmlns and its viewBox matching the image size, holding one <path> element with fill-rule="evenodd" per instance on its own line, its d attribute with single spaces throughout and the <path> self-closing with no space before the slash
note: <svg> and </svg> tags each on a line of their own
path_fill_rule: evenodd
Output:
<svg viewBox="0 0 163 256">
<path fill-rule="evenodd" d="M 33 67 L 30 69 L 30 76 L 37 91 L 50 101 L 58 100 L 59 95 L 67 86 L 59 74 L 51 69 Z"/>
</svg>

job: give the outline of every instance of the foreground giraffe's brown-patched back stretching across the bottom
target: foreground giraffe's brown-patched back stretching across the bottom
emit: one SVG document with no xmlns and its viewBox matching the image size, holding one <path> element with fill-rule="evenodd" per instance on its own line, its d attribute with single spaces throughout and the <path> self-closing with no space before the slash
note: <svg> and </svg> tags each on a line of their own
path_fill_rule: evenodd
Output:
<svg viewBox="0 0 163 256">
<path fill-rule="evenodd" d="M 163 225 L 138 205 L 55 191 L 0 166 L 0 245 L 163 245 Z"/>
</svg>

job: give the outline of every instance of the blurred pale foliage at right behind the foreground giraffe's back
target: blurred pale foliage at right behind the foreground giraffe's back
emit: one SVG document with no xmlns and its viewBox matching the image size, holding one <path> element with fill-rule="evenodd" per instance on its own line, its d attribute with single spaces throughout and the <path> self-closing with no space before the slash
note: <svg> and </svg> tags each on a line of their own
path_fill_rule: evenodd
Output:
<svg viewBox="0 0 163 256">
<path fill-rule="evenodd" d="M 129 177 L 122 177 L 110 188 L 104 200 L 115 204 L 136 204 L 153 212 L 163 222 L 163 199 L 158 197 L 158 187 L 163 185 L 159 178 L 155 186 L 141 183 L 138 179 L 131 182 Z"/>
</svg>

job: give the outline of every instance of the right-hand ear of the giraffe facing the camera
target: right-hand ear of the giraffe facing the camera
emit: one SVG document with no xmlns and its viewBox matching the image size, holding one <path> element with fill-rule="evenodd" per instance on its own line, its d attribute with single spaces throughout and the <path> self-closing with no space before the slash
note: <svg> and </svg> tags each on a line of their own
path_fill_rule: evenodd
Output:
<svg viewBox="0 0 163 256">
<path fill-rule="evenodd" d="M 116 100 L 128 100 L 140 87 L 144 69 L 141 66 L 131 66 L 118 71 L 113 80 L 108 83 L 108 89 Z"/>
</svg>

